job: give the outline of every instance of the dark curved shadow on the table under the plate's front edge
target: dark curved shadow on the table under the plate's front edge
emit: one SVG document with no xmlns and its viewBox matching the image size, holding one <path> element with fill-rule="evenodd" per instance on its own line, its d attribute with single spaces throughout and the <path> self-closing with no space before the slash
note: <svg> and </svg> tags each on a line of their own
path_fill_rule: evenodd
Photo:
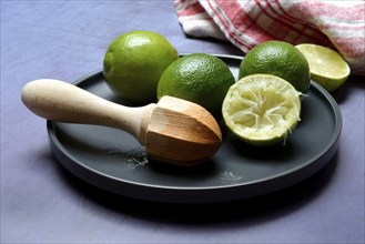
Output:
<svg viewBox="0 0 365 244">
<path fill-rule="evenodd" d="M 221 222 L 264 222 L 304 207 L 320 195 L 335 172 L 337 153 L 328 164 L 305 181 L 264 196 L 214 204 L 171 204 L 133 200 L 105 192 L 78 179 L 60 166 L 60 174 L 78 194 L 115 214 L 153 222 L 213 224 Z M 60 164 L 58 164 L 60 165 Z"/>
</svg>

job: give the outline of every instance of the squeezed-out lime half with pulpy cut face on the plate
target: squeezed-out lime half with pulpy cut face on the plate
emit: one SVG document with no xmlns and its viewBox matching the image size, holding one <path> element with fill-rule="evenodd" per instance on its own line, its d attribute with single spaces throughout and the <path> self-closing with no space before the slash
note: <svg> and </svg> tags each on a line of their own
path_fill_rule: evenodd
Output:
<svg viewBox="0 0 365 244">
<path fill-rule="evenodd" d="M 301 120 L 301 94 L 276 75 L 247 75 L 230 88 L 222 105 L 223 119 L 250 144 L 285 144 Z"/>
</svg>

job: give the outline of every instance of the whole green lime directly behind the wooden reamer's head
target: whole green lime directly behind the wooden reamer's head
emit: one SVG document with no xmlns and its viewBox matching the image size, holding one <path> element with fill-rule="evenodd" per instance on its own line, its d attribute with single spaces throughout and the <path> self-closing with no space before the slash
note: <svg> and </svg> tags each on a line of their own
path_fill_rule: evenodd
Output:
<svg viewBox="0 0 365 244">
<path fill-rule="evenodd" d="M 171 95 L 204 106 L 214 116 L 221 116 L 223 99 L 235 82 L 225 62 L 194 53 L 174 61 L 163 72 L 158 85 L 158 99 Z"/>
</svg>

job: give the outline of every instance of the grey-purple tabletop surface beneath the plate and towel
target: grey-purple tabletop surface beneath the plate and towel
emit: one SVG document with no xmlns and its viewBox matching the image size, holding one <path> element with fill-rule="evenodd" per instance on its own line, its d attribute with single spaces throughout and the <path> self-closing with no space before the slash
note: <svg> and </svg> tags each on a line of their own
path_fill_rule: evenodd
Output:
<svg viewBox="0 0 365 244">
<path fill-rule="evenodd" d="M 173 1 L 1 0 L 1 243 L 364 243 L 364 89 L 333 93 L 339 149 L 312 177 L 268 196 L 226 204 L 134 201 L 98 190 L 52 155 L 45 121 L 20 101 L 26 82 L 74 82 L 102 67 L 109 43 L 136 29 L 180 53 L 243 55 L 186 37 Z"/>
</svg>

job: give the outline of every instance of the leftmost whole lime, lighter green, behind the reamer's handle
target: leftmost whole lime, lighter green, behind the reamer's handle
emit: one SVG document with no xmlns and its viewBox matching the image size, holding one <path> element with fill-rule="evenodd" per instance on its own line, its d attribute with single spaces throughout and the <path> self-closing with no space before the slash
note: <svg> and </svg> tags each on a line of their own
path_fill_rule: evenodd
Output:
<svg viewBox="0 0 365 244">
<path fill-rule="evenodd" d="M 136 103 L 154 101 L 163 71 L 179 58 L 174 47 L 161 34 L 131 31 L 108 48 L 103 75 L 113 92 Z"/>
</svg>

